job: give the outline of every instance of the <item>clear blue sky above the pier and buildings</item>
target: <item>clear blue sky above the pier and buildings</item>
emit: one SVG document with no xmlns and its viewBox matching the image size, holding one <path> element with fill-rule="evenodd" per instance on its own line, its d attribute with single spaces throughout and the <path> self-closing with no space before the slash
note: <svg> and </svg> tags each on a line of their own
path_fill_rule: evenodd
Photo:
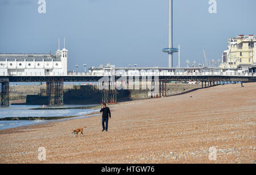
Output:
<svg viewBox="0 0 256 175">
<path fill-rule="evenodd" d="M 228 37 L 256 35 L 255 0 L 174 0 L 174 46 L 181 46 L 181 66 L 189 59 L 221 59 Z M 116 67 L 168 66 L 167 0 L 0 0 L 0 53 L 55 53 L 66 38 L 68 70 L 111 63 Z M 174 66 L 177 66 L 177 54 Z"/>
</svg>

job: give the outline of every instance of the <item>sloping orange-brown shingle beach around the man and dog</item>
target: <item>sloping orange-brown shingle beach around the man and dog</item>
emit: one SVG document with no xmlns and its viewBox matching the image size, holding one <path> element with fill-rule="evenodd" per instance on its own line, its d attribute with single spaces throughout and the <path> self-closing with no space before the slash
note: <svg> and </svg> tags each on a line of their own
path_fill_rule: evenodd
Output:
<svg viewBox="0 0 256 175">
<path fill-rule="evenodd" d="M 244 85 L 109 105 L 108 132 L 100 113 L 1 130 L 0 163 L 255 163 L 256 83 Z M 84 126 L 73 138 L 71 130 Z"/>
</svg>

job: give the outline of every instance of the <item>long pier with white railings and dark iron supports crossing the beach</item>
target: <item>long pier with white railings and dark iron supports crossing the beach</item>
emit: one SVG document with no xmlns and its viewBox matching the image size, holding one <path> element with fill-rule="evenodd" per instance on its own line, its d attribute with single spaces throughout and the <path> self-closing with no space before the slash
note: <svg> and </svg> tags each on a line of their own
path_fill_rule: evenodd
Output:
<svg viewBox="0 0 256 175">
<path fill-rule="evenodd" d="M 117 89 L 151 89 L 151 97 L 165 97 L 166 83 L 197 81 L 202 88 L 218 82 L 256 82 L 255 73 L 224 69 L 117 68 L 111 71 L 68 72 L 67 75 L 0 75 L 1 105 L 9 105 L 10 82 L 46 82 L 48 105 L 63 105 L 64 82 L 98 82 L 102 103 L 117 103 Z M 133 83 L 137 82 L 136 84 Z M 129 84 L 130 83 L 130 84 Z M 143 86 L 146 83 L 146 86 Z"/>
</svg>

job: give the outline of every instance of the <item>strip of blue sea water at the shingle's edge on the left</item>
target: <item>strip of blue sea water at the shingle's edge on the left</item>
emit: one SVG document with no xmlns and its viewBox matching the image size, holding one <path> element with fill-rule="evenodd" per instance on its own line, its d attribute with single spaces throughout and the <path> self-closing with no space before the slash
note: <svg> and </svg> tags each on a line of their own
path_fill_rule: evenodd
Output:
<svg viewBox="0 0 256 175">
<path fill-rule="evenodd" d="M 39 105 L 10 105 L 8 107 L 0 107 L 0 119 L 1 118 L 24 118 L 24 117 L 51 117 L 51 119 L 26 119 L 26 120 L 3 120 L 0 121 L 0 130 L 9 129 L 13 127 L 19 126 L 28 126 L 39 123 L 47 123 L 47 122 L 56 122 L 56 121 L 65 121 L 68 119 L 74 118 L 84 118 L 91 117 L 90 115 L 93 112 L 98 112 L 98 109 L 72 109 L 77 107 L 84 106 L 94 106 L 94 105 L 64 105 L 64 106 L 56 106 L 46 108 L 52 109 L 43 109 L 42 106 Z M 34 110 L 36 108 L 36 110 Z M 54 109 L 58 108 L 58 109 Z M 68 108 L 68 109 L 61 109 Z M 74 117 L 71 117 L 74 116 Z M 55 119 L 58 117 L 71 117 L 71 118 L 61 118 Z"/>
</svg>

